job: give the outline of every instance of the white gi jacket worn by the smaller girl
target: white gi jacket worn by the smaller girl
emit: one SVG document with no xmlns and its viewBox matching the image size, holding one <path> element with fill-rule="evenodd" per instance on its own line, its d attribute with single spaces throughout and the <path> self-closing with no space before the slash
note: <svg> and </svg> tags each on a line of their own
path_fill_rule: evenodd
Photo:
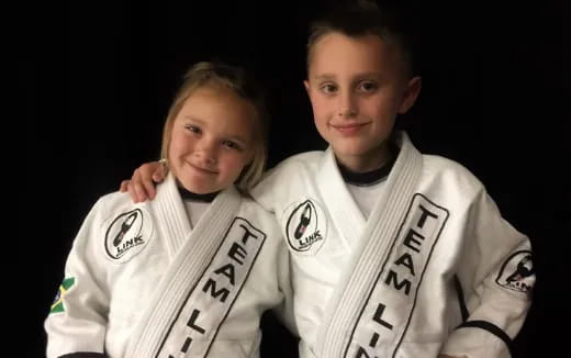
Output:
<svg viewBox="0 0 571 358">
<path fill-rule="evenodd" d="M 154 201 L 93 206 L 45 322 L 47 357 L 257 357 L 260 315 L 289 290 L 272 214 L 232 187 L 191 228 L 169 176 Z"/>
</svg>

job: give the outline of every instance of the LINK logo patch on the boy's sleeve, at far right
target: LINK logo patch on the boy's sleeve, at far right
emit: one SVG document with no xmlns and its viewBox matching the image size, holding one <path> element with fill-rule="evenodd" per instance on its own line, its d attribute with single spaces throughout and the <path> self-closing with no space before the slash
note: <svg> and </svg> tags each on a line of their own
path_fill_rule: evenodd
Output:
<svg viewBox="0 0 571 358">
<path fill-rule="evenodd" d="M 495 282 L 510 290 L 529 292 L 535 280 L 534 272 L 531 251 L 517 251 L 504 262 Z"/>
</svg>

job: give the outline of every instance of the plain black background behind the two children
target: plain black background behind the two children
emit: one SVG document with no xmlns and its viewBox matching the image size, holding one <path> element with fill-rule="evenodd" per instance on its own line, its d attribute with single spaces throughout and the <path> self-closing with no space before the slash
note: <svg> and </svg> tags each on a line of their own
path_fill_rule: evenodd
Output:
<svg viewBox="0 0 571 358">
<path fill-rule="evenodd" d="M 403 1 L 423 37 L 423 91 L 404 119 L 424 153 L 456 159 L 531 237 L 538 283 L 515 357 L 562 351 L 569 287 L 569 37 L 560 3 Z M 499 4 L 501 2 L 501 4 Z M 26 187 L 20 227 L 33 275 L 23 356 L 42 357 L 42 323 L 90 206 L 159 153 L 188 66 L 219 58 L 255 70 L 271 93 L 270 160 L 323 148 L 302 80 L 309 20 L 327 1 L 97 1 L 24 8 L 14 29 Z M 568 12 L 569 14 L 569 12 Z M 567 46 L 567 47 L 566 47 Z M 18 135 L 15 135 L 18 139 Z M 13 175 L 13 174 L 12 174 Z M 18 174 L 19 175 L 19 174 Z M 14 272 L 15 273 L 15 272 Z M 22 280 L 22 278 L 20 278 Z M 286 343 L 266 323 L 269 357 Z M 567 331 L 567 329 L 566 329 Z"/>
</svg>

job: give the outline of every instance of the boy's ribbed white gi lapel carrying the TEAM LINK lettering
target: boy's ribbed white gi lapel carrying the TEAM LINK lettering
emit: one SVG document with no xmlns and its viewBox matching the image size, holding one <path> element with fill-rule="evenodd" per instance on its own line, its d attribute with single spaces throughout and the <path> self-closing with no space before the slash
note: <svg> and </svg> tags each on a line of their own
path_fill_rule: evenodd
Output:
<svg viewBox="0 0 571 358">
<path fill-rule="evenodd" d="M 393 267 L 414 267 L 411 256 L 403 255 L 396 261 L 394 257 L 404 246 L 417 250 L 423 261 L 419 271 L 424 271 L 435 242 L 421 253 L 421 237 L 406 227 L 413 223 L 423 226 L 427 217 L 437 217 L 430 221 L 430 230 L 439 231 L 446 217 L 424 197 L 414 195 L 422 155 L 404 133 L 400 141 L 401 150 L 383 198 L 371 213 L 361 246 L 327 307 L 316 345 L 318 357 L 393 357 L 410 322 L 422 273 L 408 283 L 399 281 Z"/>
</svg>

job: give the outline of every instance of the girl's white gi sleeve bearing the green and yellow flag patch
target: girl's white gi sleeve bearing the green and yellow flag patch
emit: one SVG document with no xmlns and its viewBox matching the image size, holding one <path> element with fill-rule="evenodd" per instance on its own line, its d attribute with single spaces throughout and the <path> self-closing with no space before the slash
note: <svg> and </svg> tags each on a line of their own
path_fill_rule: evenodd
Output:
<svg viewBox="0 0 571 358">
<path fill-rule="evenodd" d="M 65 265 L 65 277 L 45 320 L 48 358 L 105 357 L 109 294 L 103 265 L 98 262 L 101 236 L 98 212 L 91 209 L 77 234 Z M 98 265 L 99 264 L 99 265 Z M 67 356 L 68 355 L 68 356 Z"/>
</svg>

